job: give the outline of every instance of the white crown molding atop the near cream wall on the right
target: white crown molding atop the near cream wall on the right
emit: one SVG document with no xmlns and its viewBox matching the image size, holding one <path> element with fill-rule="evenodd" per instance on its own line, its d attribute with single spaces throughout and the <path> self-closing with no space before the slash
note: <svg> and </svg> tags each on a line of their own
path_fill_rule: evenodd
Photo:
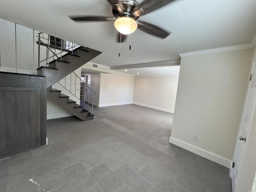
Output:
<svg viewBox="0 0 256 192">
<path fill-rule="evenodd" d="M 225 52 L 225 51 L 234 51 L 234 50 L 240 50 L 240 49 L 249 49 L 249 48 L 253 48 L 253 47 L 254 46 L 251 43 L 247 43 L 247 44 L 234 45 L 234 46 L 228 46 L 228 47 L 220 47 L 220 48 L 215 48 L 215 49 L 207 49 L 207 50 L 202 50 L 202 51 L 180 53 L 179 56 L 180 57 L 188 57 L 188 56 L 196 56 L 196 55 L 218 53 L 218 52 Z"/>
</svg>

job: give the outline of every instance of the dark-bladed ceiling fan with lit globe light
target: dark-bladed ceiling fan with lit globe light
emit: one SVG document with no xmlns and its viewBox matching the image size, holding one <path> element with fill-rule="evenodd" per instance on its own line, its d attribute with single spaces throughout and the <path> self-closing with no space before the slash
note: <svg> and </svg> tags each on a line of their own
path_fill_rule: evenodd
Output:
<svg viewBox="0 0 256 192">
<path fill-rule="evenodd" d="M 118 30 L 118 42 L 124 42 L 126 35 L 131 34 L 137 28 L 157 36 L 166 38 L 170 32 L 163 30 L 153 24 L 138 21 L 142 15 L 148 14 L 174 0 L 144 0 L 138 4 L 135 0 L 108 0 L 112 5 L 112 13 L 115 18 L 105 16 L 69 16 L 70 19 L 76 22 L 92 22 L 92 21 L 114 21 L 114 26 Z"/>
</svg>

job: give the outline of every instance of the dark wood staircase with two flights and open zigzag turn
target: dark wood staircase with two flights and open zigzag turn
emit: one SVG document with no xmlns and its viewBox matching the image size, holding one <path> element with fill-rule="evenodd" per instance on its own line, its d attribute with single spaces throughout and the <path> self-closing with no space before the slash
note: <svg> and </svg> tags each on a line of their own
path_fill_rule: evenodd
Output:
<svg viewBox="0 0 256 192">
<path fill-rule="evenodd" d="M 38 42 L 40 46 L 40 38 Z M 42 41 L 41 43 L 44 44 L 44 42 Z M 46 61 L 49 60 L 50 58 L 49 50 L 50 49 L 48 46 L 48 55 L 47 55 Z M 54 54 L 52 50 L 50 51 Z M 65 52 L 68 52 L 68 53 L 57 58 L 56 60 L 48 62 L 46 66 L 40 66 L 39 68 L 37 68 L 37 74 L 46 76 L 47 99 L 60 105 L 62 108 L 74 114 L 75 116 L 77 116 L 83 121 L 92 120 L 94 116 L 92 114 L 92 111 L 89 112 L 88 110 L 83 108 L 83 106 L 76 104 L 76 101 L 71 100 L 69 96 L 62 94 L 61 90 L 52 89 L 51 86 L 56 82 L 60 81 L 62 78 L 66 77 L 68 74 L 70 74 L 74 70 L 83 66 L 85 63 L 92 60 L 102 52 L 99 52 L 90 48 L 85 48 L 83 46 L 79 46 L 78 48 L 72 51 L 65 50 Z M 40 58 L 40 55 L 38 57 Z M 52 57 L 54 58 L 54 55 Z"/>
</svg>

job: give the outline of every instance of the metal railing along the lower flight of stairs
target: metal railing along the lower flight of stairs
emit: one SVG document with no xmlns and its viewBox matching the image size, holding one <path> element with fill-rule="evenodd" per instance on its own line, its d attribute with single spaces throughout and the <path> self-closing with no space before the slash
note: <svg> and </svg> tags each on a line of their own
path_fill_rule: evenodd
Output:
<svg viewBox="0 0 256 192">
<path fill-rule="evenodd" d="M 71 87 L 72 87 L 72 74 L 74 74 L 75 75 L 75 94 L 73 94 L 72 92 L 71 92 Z M 69 76 L 70 75 L 70 90 L 68 90 L 67 88 L 66 88 L 66 77 L 67 76 Z M 65 88 L 68 92 L 70 92 L 73 96 L 75 96 L 78 100 L 80 100 L 80 102 L 82 102 L 83 104 L 85 104 L 89 109 L 90 109 L 90 113 L 91 114 L 93 114 L 93 97 L 94 97 L 94 95 L 96 94 L 91 88 L 90 88 L 90 86 L 88 86 L 87 84 L 86 84 L 86 82 L 84 82 L 84 80 L 82 80 L 75 72 L 71 72 L 70 74 L 68 74 L 66 77 L 64 77 L 64 78 L 62 78 L 63 80 L 65 80 L 65 85 L 63 86 L 61 83 L 60 83 L 60 80 L 57 82 L 58 84 L 60 84 L 63 88 Z M 92 91 L 92 100 L 90 100 L 90 95 L 89 95 L 89 97 L 88 97 L 88 102 L 85 102 L 85 101 L 83 101 L 83 100 L 81 100 L 80 98 L 78 98 L 77 96 L 76 96 L 76 91 L 77 90 L 79 90 L 79 91 L 81 91 L 82 89 L 76 89 L 76 84 L 78 84 L 77 82 L 76 82 L 76 79 L 79 79 L 80 81 L 79 81 L 79 85 L 80 85 L 80 83 L 81 82 L 83 82 L 84 84 L 85 84 L 85 86 L 86 86 L 86 88 L 87 89 L 89 89 L 90 91 Z M 80 86 L 79 86 L 79 88 L 80 88 Z M 87 90 L 86 89 L 86 90 Z M 80 95 L 81 96 L 81 95 Z M 86 104 L 87 103 L 87 104 Z M 91 107 L 90 107 L 90 104 L 91 104 Z"/>
</svg>

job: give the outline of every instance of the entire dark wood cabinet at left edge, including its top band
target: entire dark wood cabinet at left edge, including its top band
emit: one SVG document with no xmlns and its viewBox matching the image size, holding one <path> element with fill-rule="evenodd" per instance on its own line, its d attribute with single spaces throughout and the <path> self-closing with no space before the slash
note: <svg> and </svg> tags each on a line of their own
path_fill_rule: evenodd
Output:
<svg viewBox="0 0 256 192">
<path fill-rule="evenodd" d="M 0 158 L 45 142 L 45 78 L 0 72 Z"/>
</svg>

